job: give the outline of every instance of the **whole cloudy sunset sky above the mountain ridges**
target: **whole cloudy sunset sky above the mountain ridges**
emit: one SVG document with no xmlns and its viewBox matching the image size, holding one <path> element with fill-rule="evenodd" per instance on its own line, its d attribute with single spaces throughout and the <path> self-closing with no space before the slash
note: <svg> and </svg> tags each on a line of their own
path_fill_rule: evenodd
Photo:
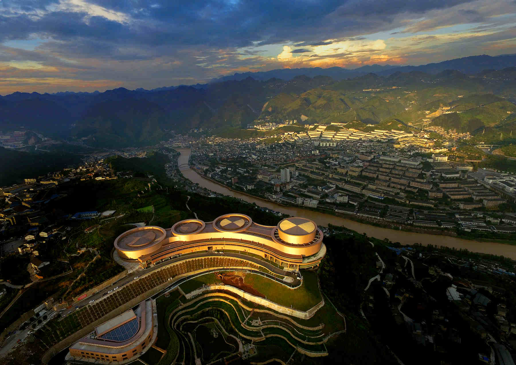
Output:
<svg viewBox="0 0 516 365">
<path fill-rule="evenodd" d="M 0 94 L 516 53 L 515 0 L 0 0 Z"/>
</svg>

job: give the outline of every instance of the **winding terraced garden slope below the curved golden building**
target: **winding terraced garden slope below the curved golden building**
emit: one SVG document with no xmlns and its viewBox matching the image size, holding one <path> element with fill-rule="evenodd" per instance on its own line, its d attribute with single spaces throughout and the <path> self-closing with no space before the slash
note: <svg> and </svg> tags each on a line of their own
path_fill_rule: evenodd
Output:
<svg viewBox="0 0 516 365">
<path fill-rule="evenodd" d="M 211 279 L 216 279 L 213 274 L 211 278 L 209 275 L 203 276 L 198 284 L 211 284 Z M 315 274 L 314 277 L 316 280 Z M 309 280 L 311 279 L 313 278 Z M 315 284 L 317 285 L 316 282 Z M 320 298 L 320 293 L 318 294 Z M 345 330 L 344 318 L 330 304 L 321 308 L 312 319 L 300 320 L 217 292 L 199 295 L 185 304 L 181 303 L 178 294 L 167 299 L 160 297 L 156 303 L 158 313 L 163 312 L 160 306 L 167 305 L 166 316 L 170 318 L 170 322 L 165 326 L 171 328 L 178 339 L 176 361 L 185 364 L 195 363 L 196 356 L 204 363 L 234 355 L 238 351 L 237 343 L 229 335 L 238 337 L 243 344 L 252 343 L 256 346 L 257 355 L 252 361 L 271 358 L 287 361 L 295 351 L 325 355 L 327 350 L 324 342 L 331 335 Z M 173 309 L 170 310 L 171 308 Z M 162 323 L 162 320 L 159 321 Z M 321 321 L 327 322 L 321 326 Z M 223 339 L 214 337 L 217 331 L 217 336 Z M 162 341 L 164 340 L 162 337 Z M 230 345 L 234 346 L 233 351 L 228 350 L 231 349 Z M 173 359 L 172 354 L 167 354 L 167 357 Z"/>
</svg>

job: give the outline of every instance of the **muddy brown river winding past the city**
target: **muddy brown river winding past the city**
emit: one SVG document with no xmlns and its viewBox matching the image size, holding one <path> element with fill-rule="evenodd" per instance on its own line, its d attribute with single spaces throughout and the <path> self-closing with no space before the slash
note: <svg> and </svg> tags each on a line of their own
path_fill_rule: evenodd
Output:
<svg viewBox="0 0 516 365">
<path fill-rule="evenodd" d="M 178 158 L 178 165 L 188 163 L 191 150 L 190 148 L 179 148 L 177 151 L 181 153 Z M 246 194 L 241 194 L 237 191 L 232 191 L 224 186 L 215 184 L 215 182 L 203 178 L 201 175 L 190 169 L 189 167 L 183 167 L 180 169 L 184 177 L 190 181 L 197 182 L 203 188 L 221 193 L 224 195 L 230 195 L 241 200 L 245 200 L 249 203 L 256 203 L 261 207 L 267 207 L 285 214 L 306 217 L 313 220 L 320 226 L 327 226 L 331 223 L 336 226 L 345 226 L 346 228 L 356 230 L 358 233 L 366 233 L 367 236 L 375 237 L 378 239 L 388 238 L 393 242 L 400 242 L 401 244 L 413 244 L 422 243 L 434 244 L 439 246 L 455 247 L 455 248 L 467 248 L 472 252 L 481 252 L 493 255 L 503 255 L 516 260 L 516 245 L 508 245 L 496 242 L 477 242 L 472 240 L 464 240 L 457 237 L 441 236 L 441 235 L 430 235 L 424 233 L 406 232 L 401 230 L 394 230 L 389 228 L 376 227 L 360 222 L 355 222 L 342 217 L 335 217 L 335 215 L 315 212 L 308 209 L 298 207 L 285 207 L 269 200 L 262 200 Z M 224 212 L 221 212 L 221 214 Z M 202 217 L 200 217 L 202 219 Z M 257 222 L 260 223 L 260 222 Z"/>
</svg>

